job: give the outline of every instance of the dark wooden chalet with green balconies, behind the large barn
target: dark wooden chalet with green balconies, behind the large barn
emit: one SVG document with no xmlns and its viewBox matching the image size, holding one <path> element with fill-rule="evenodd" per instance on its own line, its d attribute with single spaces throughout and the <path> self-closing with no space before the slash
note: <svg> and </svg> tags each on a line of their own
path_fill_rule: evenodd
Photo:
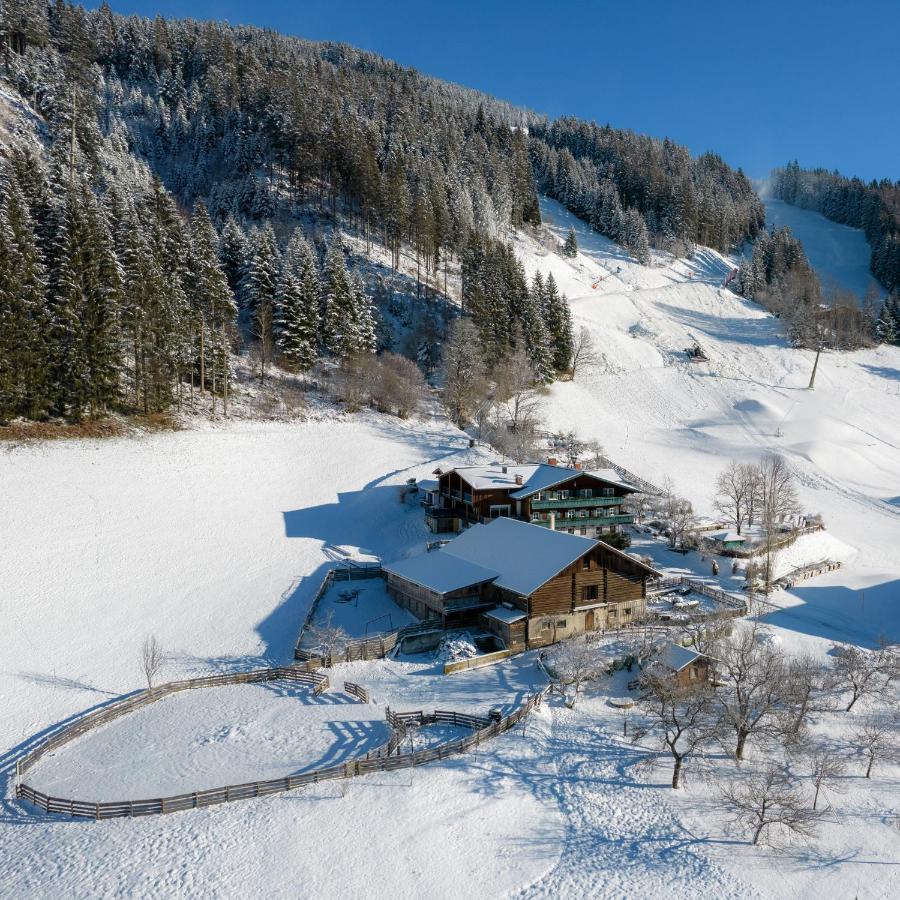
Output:
<svg viewBox="0 0 900 900">
<path fill-rule="evenodd" d="M 437 493 L 426 506 L 434 532 L 456 532 L 468 524 L 512 518 L 554 531 L 602 537 L 634 523 L 622 504 L 637 488 L 613 469 L 587 471 L 546 463 L 463 466 L 436 471 Z"/>
</svg>

